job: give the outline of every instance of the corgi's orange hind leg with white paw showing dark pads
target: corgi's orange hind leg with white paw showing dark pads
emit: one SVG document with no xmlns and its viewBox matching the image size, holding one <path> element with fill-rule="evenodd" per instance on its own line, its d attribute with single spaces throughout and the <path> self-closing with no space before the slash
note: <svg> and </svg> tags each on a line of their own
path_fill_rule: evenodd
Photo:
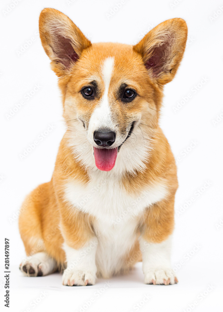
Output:
<svg viewBox="0 0 223 312">
<path fill-rule="evenodd" d="M 19 216 L 19 230 L 26 250 L 20 270 L 27 276 L 48 275 L 57 269 L 44 245 L 42 213 L 49 203 L 49 185 L 44 183 L 24 201 Z"/>
</svg>

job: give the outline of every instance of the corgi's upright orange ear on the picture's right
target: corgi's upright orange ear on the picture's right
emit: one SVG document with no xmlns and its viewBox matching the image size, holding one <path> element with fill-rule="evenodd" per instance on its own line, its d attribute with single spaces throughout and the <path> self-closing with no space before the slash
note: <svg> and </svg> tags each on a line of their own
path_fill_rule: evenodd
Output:
<svg viewBox="0 0 223 312">
<path fill-rule="evenodd" d="M 186 22 L 181 18 L 173 18 L 153 28 L 133 46 L 133 50 L 142 56 L 151 78 L 159 85 L 165 85 L 175 76 L 186 41 Z"/>
</svg>

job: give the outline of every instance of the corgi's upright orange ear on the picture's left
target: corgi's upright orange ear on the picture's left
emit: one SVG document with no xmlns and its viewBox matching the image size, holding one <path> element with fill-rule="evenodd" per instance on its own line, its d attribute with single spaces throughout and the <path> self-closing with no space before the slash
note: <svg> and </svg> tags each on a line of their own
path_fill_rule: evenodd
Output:
<svg viewBox="0 0 223 312">
<path fill-rule="evenodd" d="M 45 8 L 39 16 L 42 46 L 58 77 L 66 75 L 81 52 L 91 46 L 80 29 L 62 12 Z"/>
</svg>

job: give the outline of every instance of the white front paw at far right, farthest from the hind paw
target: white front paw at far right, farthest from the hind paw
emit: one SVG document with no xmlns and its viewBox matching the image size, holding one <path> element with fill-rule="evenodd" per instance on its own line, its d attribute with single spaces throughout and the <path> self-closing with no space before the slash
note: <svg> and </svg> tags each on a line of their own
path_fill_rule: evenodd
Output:
<svg viewBox="0 0 223 312">
<path fill-rule="evenodd" d="M 177 283 L 174 271 L 169 268 L 153 268 L 145 274 L 145 284 L 172 285 Z"/>
</svg>

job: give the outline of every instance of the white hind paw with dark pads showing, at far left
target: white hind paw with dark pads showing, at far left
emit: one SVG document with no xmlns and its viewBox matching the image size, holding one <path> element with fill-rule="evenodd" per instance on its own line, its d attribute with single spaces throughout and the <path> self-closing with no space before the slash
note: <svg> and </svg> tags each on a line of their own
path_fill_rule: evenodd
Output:
<svg viewBox="0 0 223 312">
<path fill-rule="evenodd" d="M 45 252 L 38 252 L 24 259 L 19 269 L 25 276 L 44 276 L 52 273 L 56 268 L 56 262 Z"/>
</svg>

